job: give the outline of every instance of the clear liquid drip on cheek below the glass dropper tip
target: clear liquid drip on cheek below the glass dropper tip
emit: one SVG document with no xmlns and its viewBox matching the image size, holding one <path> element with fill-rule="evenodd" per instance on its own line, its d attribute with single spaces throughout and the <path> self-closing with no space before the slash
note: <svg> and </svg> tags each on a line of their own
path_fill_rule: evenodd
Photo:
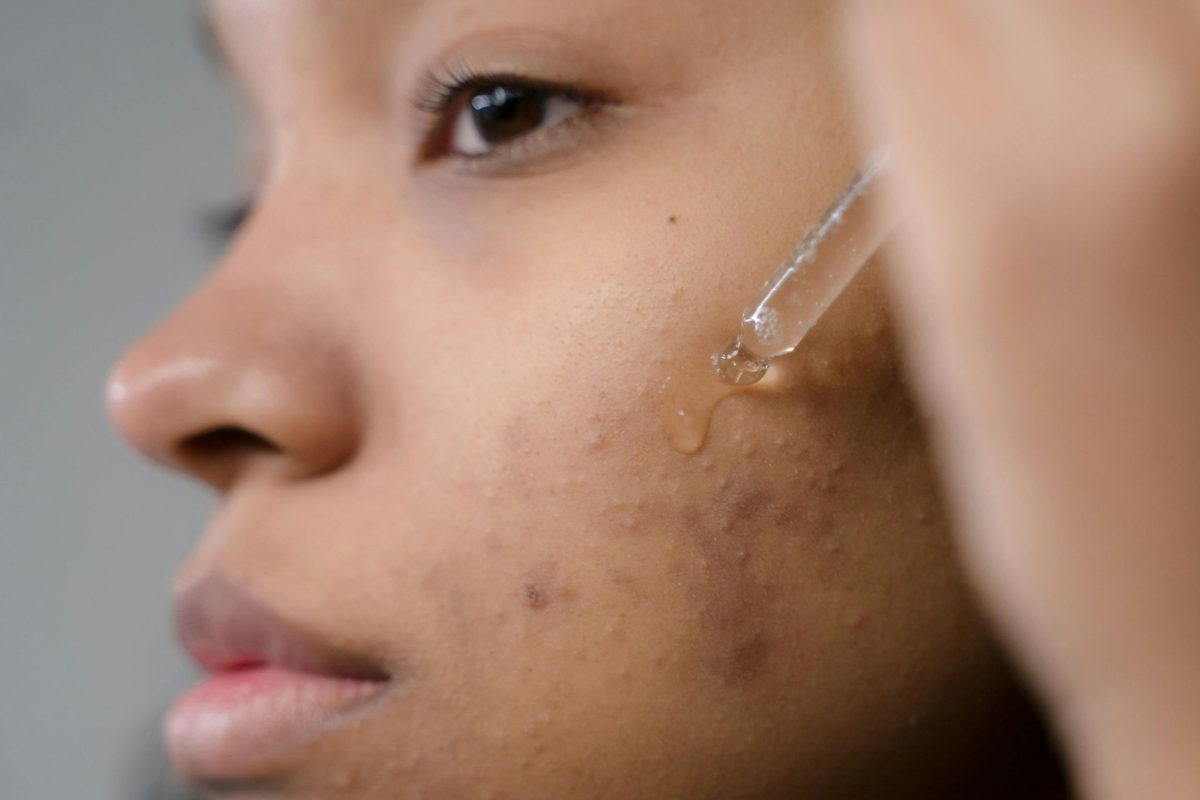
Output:
<svg viewBox="0 0 1200 800">
<path fill-rule="evenodd" d="M 662 385 L 659 419 L 667 441 L 678 452 L 700 452 L 716 407 L 726 397 L 745 391 L 767 374 L 768 363 L 733 343 L 709 361 L 680 365 Z"/>
</svg>

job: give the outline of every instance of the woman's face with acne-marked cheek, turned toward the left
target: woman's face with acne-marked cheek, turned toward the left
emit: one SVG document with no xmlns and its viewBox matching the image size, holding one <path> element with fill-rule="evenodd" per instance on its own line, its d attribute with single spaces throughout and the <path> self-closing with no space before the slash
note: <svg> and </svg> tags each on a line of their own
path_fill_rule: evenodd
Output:
<svg viewBox="0 0 1200 800">
<path fill-rule="evenodd" d="M 172 716 L 180 769 L 389 799 L 953 771 L 1008 690 L 878 267 L 703 452 L 658 417 L 854 169 L 835 4 L 210 11 L 256 210 L 109 391 L 220 491 L 178 587 L 224 684 Z"/>
</svg>

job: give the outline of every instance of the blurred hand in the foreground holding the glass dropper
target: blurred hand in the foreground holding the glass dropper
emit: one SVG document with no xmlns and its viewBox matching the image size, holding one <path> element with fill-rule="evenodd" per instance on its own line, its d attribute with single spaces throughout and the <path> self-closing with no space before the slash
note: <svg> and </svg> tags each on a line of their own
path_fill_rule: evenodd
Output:
<svg viewBox="0 0 1200 800">
<path fill-rule="evenodd" d="M 862 0 L 976 583 L 1097 799 L 1200 796 L 1200 2 Z"/>
</svg>

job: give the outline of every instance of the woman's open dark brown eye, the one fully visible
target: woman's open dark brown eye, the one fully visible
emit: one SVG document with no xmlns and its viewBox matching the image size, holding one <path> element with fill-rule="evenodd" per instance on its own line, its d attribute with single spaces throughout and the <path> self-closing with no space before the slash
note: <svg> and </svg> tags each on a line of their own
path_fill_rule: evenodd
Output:
<svg viewBox="0 0 1200 800">
<path fill-rule="evenodd" d="M 517 74 L 431 74 L 418 100 L 428 118 L 419 160 L 520 170 L 582 144 L 608 104 L 599 92 Z"/>
</svg>

